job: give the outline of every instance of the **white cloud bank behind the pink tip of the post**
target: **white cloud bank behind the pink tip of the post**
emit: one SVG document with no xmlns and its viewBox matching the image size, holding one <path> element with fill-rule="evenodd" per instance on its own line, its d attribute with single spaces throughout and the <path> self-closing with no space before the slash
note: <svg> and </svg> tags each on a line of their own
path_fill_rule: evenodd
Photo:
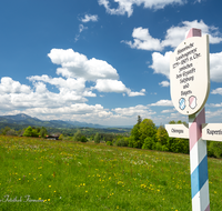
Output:
<svg viewBox="0 0 222 211">
<path fill-rule="evenodd" d="M 132 49 L 140 49 L 140 50 L 149 50 L 149 51 L 161 51 L 165 47 L 176 48 L 184 39 L 186 32 L 191 28 L 196 28 L 202 30 L 202 34 L 209 34 L 210 43 L 220 43 L 222 42 L 222 36 L 219 31 L 219 28 L 214 26 L 206 26 L 203 20 L 193 20 L 193 21 L 183 21 L 176 27 L 171 27 L 167 30 L 167 34 L 164 40 L 159 40 L 153 38 L 149 29 L 143 29 L 141 27 L 134 28 L 132 32 L 132 41 L 121 41 L 127 43 Z"/>
</svg>

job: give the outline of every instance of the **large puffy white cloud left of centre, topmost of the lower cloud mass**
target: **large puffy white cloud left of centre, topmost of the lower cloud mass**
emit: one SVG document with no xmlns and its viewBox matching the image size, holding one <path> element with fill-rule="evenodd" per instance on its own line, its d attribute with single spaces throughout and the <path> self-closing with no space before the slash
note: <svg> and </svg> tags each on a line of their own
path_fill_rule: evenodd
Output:
<svg viewBox="0 0 222 211">
<path fill-rule="evenodd" d="M 53 63 L 62 67 L 57 69 L 57 73 L 67 78 L 83 78 L 89 81 L 119 78 L 117 70 L 107 61 L 94 58 L 89 60 L 84 54 L 72 49 L 52 49 L 48 57 Z"/>
</svg>

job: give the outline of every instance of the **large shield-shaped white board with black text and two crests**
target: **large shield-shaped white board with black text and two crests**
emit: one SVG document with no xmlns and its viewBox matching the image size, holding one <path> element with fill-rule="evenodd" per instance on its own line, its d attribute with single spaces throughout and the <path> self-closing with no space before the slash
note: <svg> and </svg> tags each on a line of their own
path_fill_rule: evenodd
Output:
<svg viewBox="0 0 222 211">
<path fill-rule="evenodd" d="M 210 92 L 209 63 L 209 36 L 189 38 L 171 54 L 171 99 L 180 113 L 191 115 L 204 107 Z"/>
</svg>

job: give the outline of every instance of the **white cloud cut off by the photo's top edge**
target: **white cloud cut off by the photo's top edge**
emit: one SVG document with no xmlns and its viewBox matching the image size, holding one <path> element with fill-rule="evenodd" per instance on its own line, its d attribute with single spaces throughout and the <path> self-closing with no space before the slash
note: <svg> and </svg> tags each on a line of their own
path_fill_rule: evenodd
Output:
<svg viewBox="0 0 222 211">
<path fill-rule="evenodd" d="M 109 0 L 98 0 L 100 6 L 104 6 L 105 10 L 110 14 L 125 14 L 131 17 L 133 13 L 133 4 L 140 7 L 143 4 L 144 8 L 149 9 L 163 9 L 168 4 L 179 3 L 182 4 L 182 0 L 114 0 L 119 6 L 117 9 L 110 7 Z"/>
</svg>

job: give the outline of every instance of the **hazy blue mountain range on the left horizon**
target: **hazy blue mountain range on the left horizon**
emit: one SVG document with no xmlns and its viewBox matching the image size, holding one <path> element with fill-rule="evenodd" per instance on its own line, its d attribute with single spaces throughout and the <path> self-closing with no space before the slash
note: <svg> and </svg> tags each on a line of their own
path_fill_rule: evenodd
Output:
<svg viewBox="0 0 222 211">
<path fill-rule="evenodd" d="M 50 128 L 107 128 L 100 124 L 92 124 L 79 121 L 62 121 L 62 120 L 49 120 L 42 121 L 38 118 L 32 118 L 24 113 L 16 115 L 0 115 L 0 122 L 7 124 L 29 124 L 37 127 L 50 127 Z"/>
</svg>

